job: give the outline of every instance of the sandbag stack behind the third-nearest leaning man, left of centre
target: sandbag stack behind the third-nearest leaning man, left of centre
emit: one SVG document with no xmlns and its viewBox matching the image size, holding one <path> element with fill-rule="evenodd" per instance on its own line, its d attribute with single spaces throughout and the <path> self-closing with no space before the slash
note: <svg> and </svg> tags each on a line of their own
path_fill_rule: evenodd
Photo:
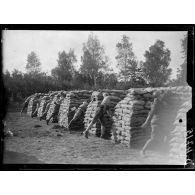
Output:
<svg viewBox="0 0 195 195">
<path fill-rule="evenodd" d="M 67 128 L 68 123 L 73 118 L 75 112 L 71 110 L 78 108 L 84 101 L 89 100 L 91 97 L 91 91 L 80 90 L 80 91 L 69 91 L 66 94 L 66 98 L 62 101 L 59 111 L 59 125 Z M 71 130 L 83 130 L 84 116 L 81 116 L 80 120 L 72 123 Z"/>
</svg>

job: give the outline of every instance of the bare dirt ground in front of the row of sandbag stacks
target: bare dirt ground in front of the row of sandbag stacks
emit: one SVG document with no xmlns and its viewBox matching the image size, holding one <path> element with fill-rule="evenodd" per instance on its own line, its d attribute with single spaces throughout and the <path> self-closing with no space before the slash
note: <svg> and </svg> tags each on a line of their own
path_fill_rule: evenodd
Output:
<svg viewBox="0 0 195 195">
<path fill-rule="evenodd" d="M 94 136 L 84 138 L 81 132 L 64 131 L 57 123 L 9 112 L 7 127 L 14 133 L 4 140 L 5 164 L 167 164 L 165 156 L 130 149 L 112 140 Z"/>
</svg>

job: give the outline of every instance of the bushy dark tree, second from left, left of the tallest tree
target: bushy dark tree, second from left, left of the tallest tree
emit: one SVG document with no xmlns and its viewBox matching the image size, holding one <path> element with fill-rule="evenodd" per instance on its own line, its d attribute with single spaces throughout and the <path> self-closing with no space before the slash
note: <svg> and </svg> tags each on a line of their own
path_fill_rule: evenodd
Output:
<svg viewBox="0 0 195 195">
<path fill-rule="evenodd" d="M 74 76 L 74 63 L 76 61 L 76 56 L 72 49 L 68 53 L 66 51 L 58 53 L 58 65 L 52 69 L 51 74 L 60 85 L 64 87 L 70 85 Z"/>
</svg>

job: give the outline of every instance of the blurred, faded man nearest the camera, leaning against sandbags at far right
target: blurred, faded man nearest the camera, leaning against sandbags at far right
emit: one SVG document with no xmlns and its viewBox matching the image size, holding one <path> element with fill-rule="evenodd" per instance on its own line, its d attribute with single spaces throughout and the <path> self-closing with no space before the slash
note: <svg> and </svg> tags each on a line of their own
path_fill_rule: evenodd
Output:
<svg viewBox="0 0 195 195">
<path fill-rule="evenodd" d="M 163 146 L 163 142 L 165 137 L 168 139 L 170 134 L 170 115 L 167 113 L 167 102 L 165 101 L 165 93 L 163 91 L 156 91 L 154 92 L 154 103 L 151 107 L 151 111 L 141 126 L 142 128 L 147 128 L 149 124 L 151 124 L 151 137 L 145 143 L 144 147 L 141 150 L 141 155 L 144 156 L 145 151 L 151 148 L 158 148 L 160 149 Z M 164 146 L 165 147 L 165 144 Z"/>
</svg>

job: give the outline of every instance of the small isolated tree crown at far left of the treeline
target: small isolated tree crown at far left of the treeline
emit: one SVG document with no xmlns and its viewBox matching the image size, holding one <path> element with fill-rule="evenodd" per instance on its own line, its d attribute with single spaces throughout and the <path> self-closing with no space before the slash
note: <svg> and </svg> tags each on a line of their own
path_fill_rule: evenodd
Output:
<svg viewBox="0 0 195 195">
<path fill-rule="evenodd" d="M 37 54 L 32 51 L 27 57 L 26 71 L 29 74 L 37 74 L 40 72 L 41 62 Z"/>
</svg>

